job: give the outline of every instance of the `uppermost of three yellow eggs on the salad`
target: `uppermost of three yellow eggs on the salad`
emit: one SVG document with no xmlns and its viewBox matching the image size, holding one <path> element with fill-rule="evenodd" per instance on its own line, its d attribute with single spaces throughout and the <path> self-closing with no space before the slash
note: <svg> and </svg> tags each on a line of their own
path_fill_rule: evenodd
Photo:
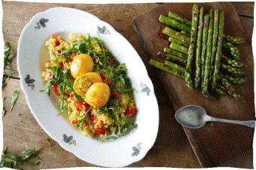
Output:
<svg viewBox="0 0 256 170">
<path fill-rule="evenodd" d="M 92 57 L 85 53 L 81 53 L 78 56 L 75 56 L 71 64 L 70 71 L 74 78 L 77 78 L 87 72 L 93 71 Z"/>
</svg>

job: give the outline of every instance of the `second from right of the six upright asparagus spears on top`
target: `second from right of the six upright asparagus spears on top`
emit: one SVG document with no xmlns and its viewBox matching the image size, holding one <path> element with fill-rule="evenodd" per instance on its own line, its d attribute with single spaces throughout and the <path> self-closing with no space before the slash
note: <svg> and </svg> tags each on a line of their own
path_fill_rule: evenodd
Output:
<svg viewBox="0 0 256 170">
<path fill-rule="evenodd" d="M 218 41 L 218 9 L 214 11 L 214 23 L 213 23 L 213 35 L 212 35 L 212 58 L 211 58 L 211 70 L 209 73 L 209 81 L 212 80 L 212 74 L 215 68 L 215 54 L 217 50 Z"/>
</svg>

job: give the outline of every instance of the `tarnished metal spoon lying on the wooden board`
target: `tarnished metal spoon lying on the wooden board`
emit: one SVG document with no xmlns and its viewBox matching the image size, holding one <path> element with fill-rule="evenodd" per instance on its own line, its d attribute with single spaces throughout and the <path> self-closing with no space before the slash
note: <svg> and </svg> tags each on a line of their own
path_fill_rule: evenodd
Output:
<svg viewBox="0 0 256 170">
<path fill-rule="evenodd" d="M 181 123 L 181 125 L 191 129 L 203 127 L 206 122 L 209 121 L 239 124 L 243 126 L 248 126 L 250 128 L 255 127 L 255 120 L 239 121 L 210 117 L 206 114 L 206 110 L 198 105 L 187 105 L 183 108 L 178 109 L 178 111 L 176 111 L 175 113 L 175 119 L 178 121 L 178 123 Z"/>
</svg>

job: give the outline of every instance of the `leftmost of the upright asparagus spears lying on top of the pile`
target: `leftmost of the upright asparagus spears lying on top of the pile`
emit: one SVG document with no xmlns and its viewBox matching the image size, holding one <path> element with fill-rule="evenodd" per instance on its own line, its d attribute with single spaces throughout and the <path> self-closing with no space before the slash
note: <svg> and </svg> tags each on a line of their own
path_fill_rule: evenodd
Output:
<svg viewBox="0 0 256 170">
<path fill-rule="evenodd" d="M 194 59 L 194 51 L 197 41 L 197 25 L 198 25 L 198 6 L 197 4 L 193 5 L 192 10 L 192 25 L 191 25 L 191 33 L 190 33 L 190 46 L 188 48 L 187 53 L 187 66 L 186 66 L 186 73 L 185 73 L 185 81 L 187 87 L 192 90 L 193 87 L 193 80 L 192 80 L 192 62 Z"/>
</svg>

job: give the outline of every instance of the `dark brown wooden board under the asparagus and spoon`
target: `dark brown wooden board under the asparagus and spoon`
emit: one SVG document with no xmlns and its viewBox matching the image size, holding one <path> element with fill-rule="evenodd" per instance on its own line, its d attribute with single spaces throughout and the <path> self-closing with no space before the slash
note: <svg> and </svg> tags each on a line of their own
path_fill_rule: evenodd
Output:
<svg viewBox="0 0 256 170">
<path fill-rule="evenodd" d="M 133 19 L 133 26 L 142 41 L 149 59 L 158 59 L 157 52 L 168 47 L 168 41 L 158 38 L 157 33 L 163 25 L 158 22 L 160 14 L 168 15 L 173 11 L 188 19 L 191 18 L 192 5 L 190 3 L 169 3 L 160 5 L 145 14 Z M 242 26 L 239 16 L 233 5 L 227 2 L 202 3 L 208 12 L 210 8 L 218 8 L 225 11 L 226 35 L 242 36 L 248 43 L 240 45 L 242 62 L 247 65 L 245 71 L 248 74 L 248 82 L 244 85 L 236 85 L 236 90 L 245 97 L 246 102 L 239 102 L 229 96 L 221 96 L 212 101 L 204 98 L 198 91 L 187 89 L 184 80 L 164 71 L 157 70 L 161 83 L 166 93 L 177 110 L 184 105 L 200 105 L 206 108 L 209 115 L 233 120 L 254 120 L 254 69 L 251 40 L 245 28 Z M 159 60 L 159 59 L 158 59 Z M 151 69 L 156 69 L 152 67 Z M 154 84 L 157 86 L 157 84 Z M 169 115 L 174 117 L 174 115 Z M 201 129 L 187 129 L 184 132 L 190 141 L 191 147 L 203 167 L 222 165 L 230 159 L 234 159 L 248 150 L 252 150 L 254 129 L 245 126 L 237 126 L 227 123 L 207 123 Z M 175 138 L 175 136 L 173 136 Z"/>
</svg>

